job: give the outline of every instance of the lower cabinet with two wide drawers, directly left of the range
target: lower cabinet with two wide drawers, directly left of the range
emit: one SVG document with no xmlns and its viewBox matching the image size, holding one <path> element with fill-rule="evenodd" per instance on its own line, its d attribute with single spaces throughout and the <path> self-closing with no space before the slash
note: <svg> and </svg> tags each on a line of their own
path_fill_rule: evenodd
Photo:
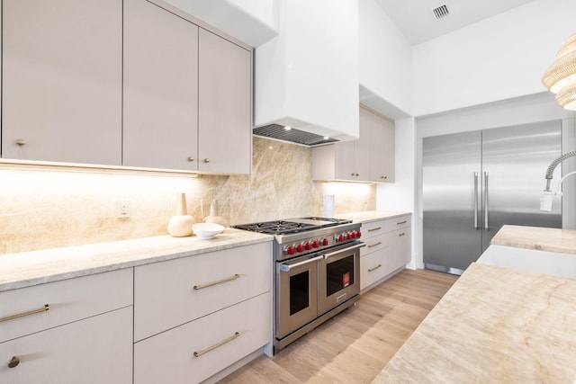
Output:
<svg viewBox="0 0 576 384">
<path fill-rule="evenodd" d="M 272 338 L 272 242 L 134 271 L 134 383 L 195 383 Z"/>
</svg>

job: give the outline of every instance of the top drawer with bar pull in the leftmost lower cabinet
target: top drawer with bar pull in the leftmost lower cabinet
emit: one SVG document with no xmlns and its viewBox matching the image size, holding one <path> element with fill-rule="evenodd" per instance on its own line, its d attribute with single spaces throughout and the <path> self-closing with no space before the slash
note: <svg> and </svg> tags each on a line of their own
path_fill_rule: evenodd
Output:
<svg viewBox="0 0 576 384">
<path fill-rule="evenodd" d="M 132 287 L 128 268 L 0 292 L 0 342 L 130 306 Z"/>
</svg>

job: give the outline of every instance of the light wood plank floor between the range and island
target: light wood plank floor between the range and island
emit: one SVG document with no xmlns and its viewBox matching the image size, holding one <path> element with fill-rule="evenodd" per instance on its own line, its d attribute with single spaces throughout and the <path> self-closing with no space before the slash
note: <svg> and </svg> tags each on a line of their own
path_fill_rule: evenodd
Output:
<svg viewBox="0 0 576 384">
<path fill-rule="evenodd" d="M 370 383 L 456 279 L 404 270 L 362 295 L 356 307 L 220 383 Z"/>
</svg>

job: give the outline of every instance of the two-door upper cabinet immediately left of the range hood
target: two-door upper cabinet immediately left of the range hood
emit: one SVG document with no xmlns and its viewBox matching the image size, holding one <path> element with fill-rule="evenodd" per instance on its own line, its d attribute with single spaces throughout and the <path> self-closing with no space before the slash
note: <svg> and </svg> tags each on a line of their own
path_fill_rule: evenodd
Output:
<svg viewBox="0 0 576 384">
<path fill-rule="evenodd" d="M 249 174 L 251 51 L 146 0 L 124 7 L 123 165 Z"/>
</svg>

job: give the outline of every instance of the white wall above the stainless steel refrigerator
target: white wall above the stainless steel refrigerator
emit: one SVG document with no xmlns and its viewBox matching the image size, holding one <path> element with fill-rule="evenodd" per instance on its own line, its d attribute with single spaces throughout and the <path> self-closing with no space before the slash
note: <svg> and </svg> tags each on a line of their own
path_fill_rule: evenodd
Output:
<svg viewBox="0 0 576 384">
<path fill-rule="evenodd" d="M 544 91 L 575 21 L 576 1 L 536 0 L 415 46 L 414 115 Z"/>
</svg>

